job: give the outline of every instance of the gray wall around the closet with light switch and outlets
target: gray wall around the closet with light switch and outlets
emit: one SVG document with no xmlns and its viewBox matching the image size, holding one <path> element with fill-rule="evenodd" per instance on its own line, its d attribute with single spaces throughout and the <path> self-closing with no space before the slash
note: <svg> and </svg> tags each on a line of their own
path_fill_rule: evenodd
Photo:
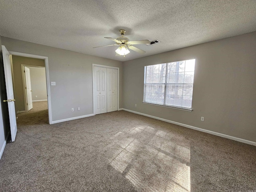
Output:
<svg viewBox="0 0 256 192">
<path fill-rule="evenodd" d="M 9 51 L 48 56 L 50 82 L 56 82 L 56 86 L 50 86 L 53 121 L 93 113 L 92 63 L 120 68 L 120 108 L 123 107 L 122 62 L 6 37 L 2 37 L 2 44 Z"/>
</svg>

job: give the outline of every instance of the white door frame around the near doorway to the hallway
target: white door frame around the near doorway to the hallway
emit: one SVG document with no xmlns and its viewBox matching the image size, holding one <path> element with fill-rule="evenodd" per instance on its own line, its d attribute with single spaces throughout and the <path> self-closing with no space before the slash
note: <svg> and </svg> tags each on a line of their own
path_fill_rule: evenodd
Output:
<svg viewBox="0 0 256 192">
<path fill-rule="evenodd" d="M 52 124 L 52 106 L 51 106 L 51 94 L 50 94 L 50 76 L 49 76 L 49 64 L 48 57 L 34 54 L 27 54 L 21 52 L 9 51 L 10 55 L 24 56 L 30 58 L 44 59 L 45 73 L 46 73 L 46 89 L 47 89 L 47 103 L 48 103 L 48 119 L 49 124 Z"/>
</svg>

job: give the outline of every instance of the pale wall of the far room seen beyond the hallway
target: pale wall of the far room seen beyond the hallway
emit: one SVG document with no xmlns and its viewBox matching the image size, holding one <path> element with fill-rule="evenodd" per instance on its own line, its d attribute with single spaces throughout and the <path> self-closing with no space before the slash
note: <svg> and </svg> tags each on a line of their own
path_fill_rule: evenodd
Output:
<svg viewBox="0 0 256 192">
<path fill-rule="evenodd" d="M 47 100 L 45 68 L 29 67 L 32 101 Z M 37 96 L 37 97 L 36 97 Z"/>
</svg>

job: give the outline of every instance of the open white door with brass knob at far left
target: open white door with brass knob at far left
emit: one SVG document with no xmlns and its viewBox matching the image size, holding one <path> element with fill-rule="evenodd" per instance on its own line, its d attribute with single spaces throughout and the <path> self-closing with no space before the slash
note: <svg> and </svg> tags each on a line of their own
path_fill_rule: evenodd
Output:
<svg viewBox="0 0 256 192">
<path fill-rule="evenodd" d="M 2 45 L 2 53 L 4 60 L 4 76 L 6 83 L 6 92 L 7 92 L 7 100 L 3 100 L 3 102 L 8 102 L 8 111 L 9 111 L 9 119 L 10 119 L 10 128 L 11 128 L 11 137 L 12 142 L 14 142 L 16 133 L 17 133 L 17 124 L 16 124 L 16 114 L 15 114 L 15 106 L 14 106 L 14 94 L 12 87 L 12 71 L 11 71 L 11 63 L 10 63 L 10 54 L 5 46 Z"/>
</svg>

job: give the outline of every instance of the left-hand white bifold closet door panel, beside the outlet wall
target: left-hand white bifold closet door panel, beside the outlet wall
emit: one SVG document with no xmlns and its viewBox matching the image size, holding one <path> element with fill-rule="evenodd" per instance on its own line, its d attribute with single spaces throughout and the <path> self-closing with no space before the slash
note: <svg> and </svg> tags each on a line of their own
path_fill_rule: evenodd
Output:
<svg viewBox="0 0 256 192">
<path fill-rule="evenodd" d="M 107 112 L 107 68 L 94 66 L 94 113 Z"/>
</svg>

